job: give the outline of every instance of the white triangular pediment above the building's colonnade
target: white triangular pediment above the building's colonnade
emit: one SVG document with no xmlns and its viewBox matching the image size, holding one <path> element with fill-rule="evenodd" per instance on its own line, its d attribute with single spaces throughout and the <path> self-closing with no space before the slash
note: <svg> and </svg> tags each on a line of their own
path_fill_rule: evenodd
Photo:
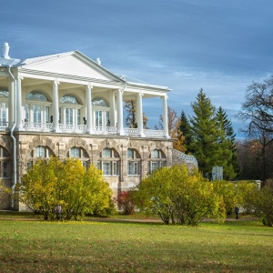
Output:
<svg viewBox="0 0 273 273">
<path fill-rule="evenodd" d="M 26 59 L 23 67 L 28 70 L 56 73 L 58 75 L 80 76 L 106 81 L 120 80 L 104 67 L 77 51 Z"/>
</svg>

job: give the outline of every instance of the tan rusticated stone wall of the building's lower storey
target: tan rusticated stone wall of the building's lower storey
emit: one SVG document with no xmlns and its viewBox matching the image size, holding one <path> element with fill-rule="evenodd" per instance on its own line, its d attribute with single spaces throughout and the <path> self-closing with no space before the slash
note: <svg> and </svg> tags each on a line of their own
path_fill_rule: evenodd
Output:
<svg viewBox="0 0 273 273">
<path fill-rule="evenodd" d="M 71 147 L 81 147 L 86 151 L 91 164 L 96 166 L 101 151 L 108 147 L 115 149 L 119 157 L 119 175 L 105 177 L 109 187 L 113 190 L 113 197 L 121 190 L 127 190 L 139 184 L 143 177 L 147 176 L 147 161 L 150 158 L 151 151 L 160 149 L 167 158 L 167 166 L 172 165 L 172 140 L 140 138 L 127 136 L 87 136 L 73 134 L 56 134 L 43 132 L 15 132 L 17 147 L 17 184 L 20 184 L 21 177 L 25 174 L 27 161 L 31 158 L 31 152 L 35 147 L 43 146 L 48 148 L 55 157 L 66 158 L 67 151 Z M 11 177 L 6 179 L 5 187 L 13 185 L 13 142 L 8 134 L 0 135 L 0 145 L 5 147 L 10 155 L 10 173 Z M 127 149 L 134 148 L 141 157 L 141 172 L 138 176 L 127 175 Z M 3 199 L 4 200 L 4 199 Z M 0 201 L 1 202 L 1 201 Z M 8 203 L 8 204 L 6 204 Z M 2 204 L 2 205 L 1 205 Z M 0 209 L 10 207 L 10 199 L 0 203 Z"/>
</svg>

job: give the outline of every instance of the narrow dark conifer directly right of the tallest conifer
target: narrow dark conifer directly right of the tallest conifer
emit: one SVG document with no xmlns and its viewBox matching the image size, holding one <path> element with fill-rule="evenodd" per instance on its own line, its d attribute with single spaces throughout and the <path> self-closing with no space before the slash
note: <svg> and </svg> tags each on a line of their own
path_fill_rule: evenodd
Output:
<svg viewBox="0 0 273 273">
<path fill-rule="evenodd" d="M 231 180 L 238 175 L 237 149 L 235 134 L 226 111 L 220 106 L 217 110 L 218 145 L 221 147 L 221 166 L 224 167 L 224 179 Z"/>
</svg>

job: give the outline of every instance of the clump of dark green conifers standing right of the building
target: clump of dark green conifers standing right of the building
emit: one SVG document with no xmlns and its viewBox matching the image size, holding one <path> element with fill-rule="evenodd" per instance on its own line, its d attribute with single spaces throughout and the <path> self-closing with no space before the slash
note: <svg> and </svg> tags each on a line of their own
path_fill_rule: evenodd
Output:
<svg viewBox="0 0 273 273">
<path fill-rule="evenodd" d="M 212 167 L 223 167 L 224 178 L 237 177 L 237 150 L 231 121 L 222 107 L 212 105 L 203 89 L 191 104 L 193 116 L 183 118 L 183 127 L 188 140 L 187 151 L 197 157 L 198 168 L 206 177 L 212 177 Z M 182 123 L 182 122 L 181 122 Z"/>
</svg>

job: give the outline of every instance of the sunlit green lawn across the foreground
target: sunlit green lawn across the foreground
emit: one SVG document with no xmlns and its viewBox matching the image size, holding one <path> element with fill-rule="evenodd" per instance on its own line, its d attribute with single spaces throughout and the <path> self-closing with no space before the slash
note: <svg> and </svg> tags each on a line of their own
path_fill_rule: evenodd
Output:
<svg viewBox="0 0 273 273">
<path fill-rule="evenodd" d="M 0 272 L 271 272 L 273 266 L 273 229 L 255 220 L 198 227 L 1 220 L 0 246 Z"/>
</svg>

